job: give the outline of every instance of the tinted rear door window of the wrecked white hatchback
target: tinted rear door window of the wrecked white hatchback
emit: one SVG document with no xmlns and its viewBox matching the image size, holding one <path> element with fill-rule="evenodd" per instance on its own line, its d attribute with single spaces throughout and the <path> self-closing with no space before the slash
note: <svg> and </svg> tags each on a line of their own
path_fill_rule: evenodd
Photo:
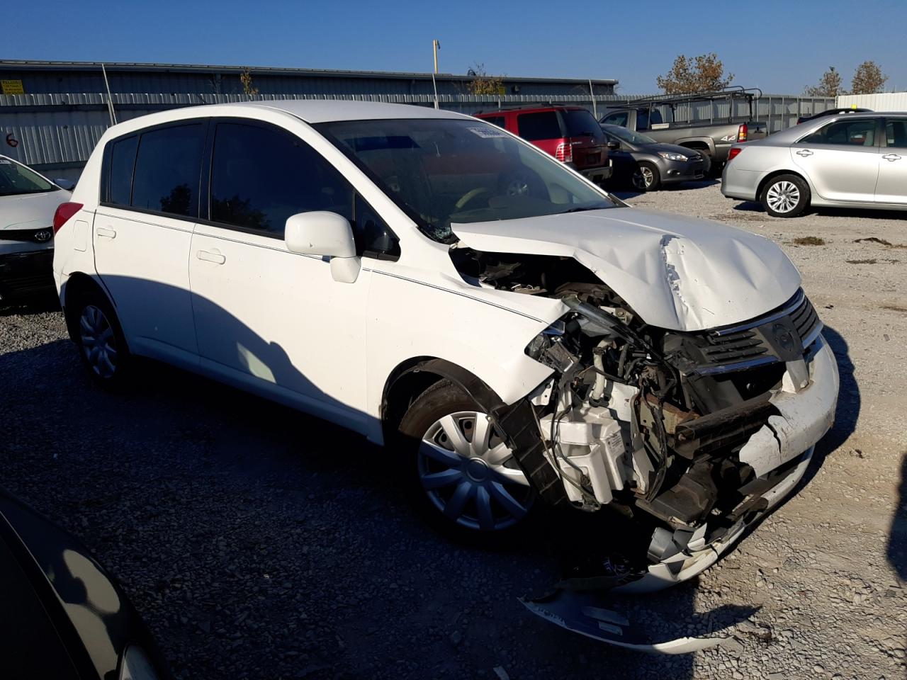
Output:
<svg viewBox="0 0 907 680">
<path fill-rule="evenodd" d="M 132 207 L 196 217 L 205 127 L 143 132 L 132 181 Z"/>
</svg>

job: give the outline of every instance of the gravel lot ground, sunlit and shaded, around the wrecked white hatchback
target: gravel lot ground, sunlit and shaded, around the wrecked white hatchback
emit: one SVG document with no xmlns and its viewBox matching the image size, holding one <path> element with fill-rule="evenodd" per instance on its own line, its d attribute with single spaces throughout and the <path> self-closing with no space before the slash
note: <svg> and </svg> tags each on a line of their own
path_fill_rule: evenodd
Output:
<svg viewBox="0 0 907 680">
<path fill-rule="evenodd" d="M 121 579 L 179 678 L 904 678 L 907 213 L 772 219 L 714 182 L 626 196 L 780 242 L 841 366 L 799 494 L 694 582 L 615 605 L 663 639 L 733 624 L 734 646 L 642 655 L 532 617 L 517 597 L 555 578 L 556 520 L 520 549 L 453 546 L 354 435 L 160 366 L 99 392 L 53 306 L 0 312 L 0 483 Z"/>
</svg>

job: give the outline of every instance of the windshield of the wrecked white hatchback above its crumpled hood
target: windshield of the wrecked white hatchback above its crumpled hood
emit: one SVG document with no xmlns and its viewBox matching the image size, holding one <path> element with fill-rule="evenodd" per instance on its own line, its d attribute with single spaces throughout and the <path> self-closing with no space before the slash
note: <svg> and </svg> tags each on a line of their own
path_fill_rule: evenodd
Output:
<svg viewBox="0 0 907 680">
<path fill-rule="evenodd" d="M 620 205 L 558 160 L 483 121 L 338 121 L 315 127 L 436 241 L 456 240 L 452 223 Z"/>
</svg>

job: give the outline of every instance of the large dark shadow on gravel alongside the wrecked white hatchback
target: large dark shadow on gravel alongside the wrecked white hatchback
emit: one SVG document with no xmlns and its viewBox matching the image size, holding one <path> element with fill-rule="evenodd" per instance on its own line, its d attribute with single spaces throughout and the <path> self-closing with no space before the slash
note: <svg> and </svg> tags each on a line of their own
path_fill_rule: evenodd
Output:
<svg viewBox="0 0 907 680">
<path fill-rule="evenodd" d="M 414 516 L 398 452 L 161 364 L 104 393 L 55 324 L 0 354 L 5 485 L 122 580 L 178 677 L 692 677 L 692 655 L 608 646 L 520 603 L 577 553 L 639 541 L 614 517 L 549 515 L 516 545 L 465 548 Z M 654 640 L 754 611 L 697 613 L 697 588 L 598 604 Z"/>
</svg>

